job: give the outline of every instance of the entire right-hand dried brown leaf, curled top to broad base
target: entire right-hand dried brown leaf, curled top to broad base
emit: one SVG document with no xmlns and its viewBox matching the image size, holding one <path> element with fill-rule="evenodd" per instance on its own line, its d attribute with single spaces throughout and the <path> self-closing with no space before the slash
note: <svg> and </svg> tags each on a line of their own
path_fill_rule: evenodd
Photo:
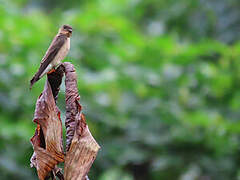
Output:
<svg viewBox="0 0 240 180">
<path fill-rule="evenodd" d="M 100 146 L 92 137 L 81 113 L 77 77 L 72 64 L 64 63 L 66 74 L 66 128 L 67 154 L 64 166 L 65 180 L 85 180 Z"/>
</svg>

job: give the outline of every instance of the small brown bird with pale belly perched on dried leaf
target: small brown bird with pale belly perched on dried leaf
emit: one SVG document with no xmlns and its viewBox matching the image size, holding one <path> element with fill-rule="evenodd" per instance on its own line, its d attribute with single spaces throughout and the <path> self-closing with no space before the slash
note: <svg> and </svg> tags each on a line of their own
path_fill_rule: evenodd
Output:
<svg viewBox="0 0 240 180">
<path fill-rule="evenodd" d="M 61 64 L 61 61 L 69 52 L 72 31 L 73 29 L 70 25 L 62 25 L 59 28 L 57 35 L 42 58 L 38 71 L 30 81 L 30 89 L 45 74 L 55 71 L 55 68 Z"/>
</svg>

